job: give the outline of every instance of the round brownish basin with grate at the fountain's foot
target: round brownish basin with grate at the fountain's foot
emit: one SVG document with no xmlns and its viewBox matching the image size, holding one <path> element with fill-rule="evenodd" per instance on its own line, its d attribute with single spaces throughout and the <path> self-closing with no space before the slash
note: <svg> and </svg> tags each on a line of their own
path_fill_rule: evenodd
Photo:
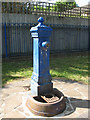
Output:
<svg viewBox="0 0 90 120">
<path fill-rule="evenodd" d="M 43 99 L 44 97 L 45 99 Z M 30 95 L 26 101 L 26 106 L 36 115 L 51 117 L 62 113 L 66 108 L 66 103 L 63 93 L 53 89 L 52 93 L 48 93 L 45 96 Z"/>
</svg>

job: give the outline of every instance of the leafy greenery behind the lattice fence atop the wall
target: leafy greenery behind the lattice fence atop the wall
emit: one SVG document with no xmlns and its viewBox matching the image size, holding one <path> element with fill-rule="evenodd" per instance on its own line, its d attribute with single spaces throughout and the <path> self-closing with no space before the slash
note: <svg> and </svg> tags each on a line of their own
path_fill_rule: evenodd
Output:
<svg viewBox="0 0 90 120">
<path fill-rule="evenodd" d="M 44 3 L 22 3 L 22 2 L 3 2 L 2 12 L 4 13 L 30 13 L 31 11 L 57 11 L 62 12 L 76 7 L 76 2 L 56 2 L 55 4 Z"/>
</svg>

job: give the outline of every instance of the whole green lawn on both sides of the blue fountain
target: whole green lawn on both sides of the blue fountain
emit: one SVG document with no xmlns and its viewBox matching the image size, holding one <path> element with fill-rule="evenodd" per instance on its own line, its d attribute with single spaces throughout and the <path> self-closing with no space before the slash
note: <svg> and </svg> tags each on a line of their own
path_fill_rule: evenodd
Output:
<svg viewBox="0 0 90 120">
<path fill-rule="evenodd" d="M 30 78 L 33 67 L 31 59 L 3 61 L 2 82 Z M 75 80 L 88 84 L 88 56 L 50 57 L 50 74 L 54 78 Z"/>
</svg>

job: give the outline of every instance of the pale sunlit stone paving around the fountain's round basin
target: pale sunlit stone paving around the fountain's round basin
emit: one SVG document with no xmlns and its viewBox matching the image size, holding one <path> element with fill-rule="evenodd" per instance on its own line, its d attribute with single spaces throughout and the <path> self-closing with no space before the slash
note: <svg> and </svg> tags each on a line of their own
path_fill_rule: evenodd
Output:
<svg viewBox="0 0 90 120">
<path fill-rule="evenodd" d="M 54 88 L 57 88 L 66 96 L 67 107 L 62 114 L 58 114 L 53 118 L 88 118 L 88 110 L 90 99 L 88 98 L 88 86 L 77 82 L 61 81 L 60 79 L 53 80 Z M 21 80 L 10 82 L 5 88 L 0 89 L 2 92 L 0 99 L 0 118 L 40 118 L 48 119 L 48 117 L 36 116 L 31 113 L 26 107 L 27 96 L 30 95 L 30 90 L 25 89 L 30 87 L 29 80 Z M 28 91 L 29 90 L 29 91 Z"/>
</svg>

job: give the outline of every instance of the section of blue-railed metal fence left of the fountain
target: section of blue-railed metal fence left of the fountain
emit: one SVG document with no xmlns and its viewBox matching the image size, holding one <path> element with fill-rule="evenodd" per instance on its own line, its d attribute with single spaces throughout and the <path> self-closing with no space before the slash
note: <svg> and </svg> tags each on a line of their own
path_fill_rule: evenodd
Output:
<svg viewBox="0 0 90 120">
<path fill-rule="evenodd" d="M 30 27 L 35 24 L 8 23 L 3 24 L 2 55 L 10 56 L 30 56 L 32 54 L 32 38 Z"/>
</svg>

